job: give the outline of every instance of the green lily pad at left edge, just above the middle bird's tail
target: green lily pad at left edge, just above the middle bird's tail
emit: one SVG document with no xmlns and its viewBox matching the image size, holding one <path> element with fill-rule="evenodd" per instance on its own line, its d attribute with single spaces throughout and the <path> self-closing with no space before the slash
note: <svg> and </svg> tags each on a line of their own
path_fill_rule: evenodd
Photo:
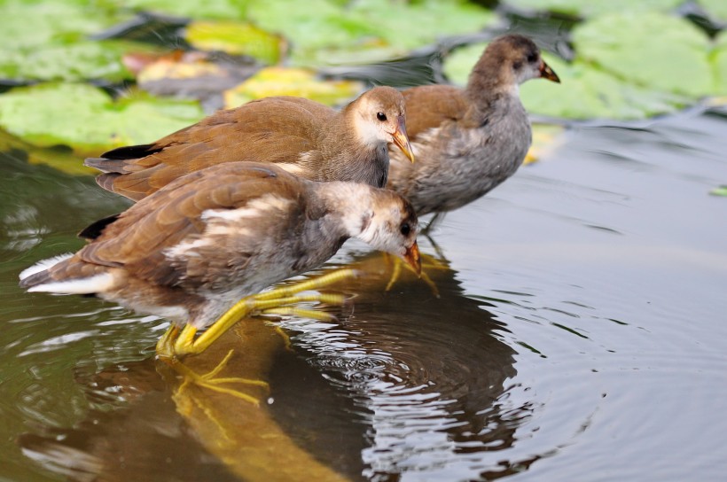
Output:
<svg viewBox="0 0 727 482">
<path fill-rule="evenodd" d="M 0 127 L 31 144 L 76 152 L 149 143 L 203 115 L 194 102 L 143 95 L 114 102 L 84 84 L 39 84 L 0 96 Z"/>
</svg>

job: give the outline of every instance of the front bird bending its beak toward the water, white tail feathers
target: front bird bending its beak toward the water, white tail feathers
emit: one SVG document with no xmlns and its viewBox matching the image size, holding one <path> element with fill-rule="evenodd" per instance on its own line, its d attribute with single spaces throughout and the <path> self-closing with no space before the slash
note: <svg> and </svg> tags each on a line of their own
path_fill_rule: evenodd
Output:
<svg viewBox="0 0 727 482">
<path fill-rule="evenodd" d="M 199 353 L 205 346 L 192 342 L 197 329 L 239 299 L 319 267 L 349 237 L 420 270 L 417 233 L 413 208 L 391 190 L 317 183 L 270 163 L 231 162 L 185 175 L 92 224 L 81 233 L 88 245 L 27 268 L 20 286 L 93 294 L 187 325 L 192 336 L 175 341 L 168 355 Z M 249 308 L 255 307 L 252 299 Z M 208 341 L 224 329 L 211 327 L 216 334 Z"/>
</svg>

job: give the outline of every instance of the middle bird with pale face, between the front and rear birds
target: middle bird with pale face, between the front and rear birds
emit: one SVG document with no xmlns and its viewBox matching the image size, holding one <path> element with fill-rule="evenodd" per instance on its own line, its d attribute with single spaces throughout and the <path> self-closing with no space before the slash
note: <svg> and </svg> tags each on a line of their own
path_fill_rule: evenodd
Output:
<svg viewBox="0 0 727 482">
<path fill-rule="evenodd" d="M 101 187 L 135 201 L 185 174 L 232 161 L 275 163 L 312 181 L 384 187 L 387 143 L 413 161 L 402 95 L 376 87 L 341 111 L 301 97 L 265 97 L 85 164 L 106 173 L 97 177 Z"/>
</svg>

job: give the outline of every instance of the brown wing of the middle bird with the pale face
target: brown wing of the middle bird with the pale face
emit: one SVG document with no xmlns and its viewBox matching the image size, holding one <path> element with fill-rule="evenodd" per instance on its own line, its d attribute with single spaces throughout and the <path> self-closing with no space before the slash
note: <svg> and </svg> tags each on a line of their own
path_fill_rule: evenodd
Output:
<svg viewBox="0 0 727 482">
<path fill-rule="evenodd" d="M 301 152 L 317 151 L 318 133 L 336 115 L 332 108 L 308 99 L 266 97 L 215 113 L 149 144 L 150 155 L 125 160 L 122 169 L 99 176 L 99 184 L 111 184 L 114 192 L 138 200 L 177 177 L 215 164 L 294 162 Z M 118 159 L 124 149 L 131 156 L 140 152 L 129 146 L 109 154 Z"/>
</svg>

